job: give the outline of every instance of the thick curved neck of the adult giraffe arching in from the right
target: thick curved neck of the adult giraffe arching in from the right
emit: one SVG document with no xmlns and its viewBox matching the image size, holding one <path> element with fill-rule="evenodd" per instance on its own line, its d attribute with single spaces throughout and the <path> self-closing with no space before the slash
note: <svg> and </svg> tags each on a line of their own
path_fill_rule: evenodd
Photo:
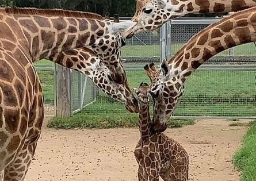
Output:
<svg viewBox="0 0 256 181">
<path fill-rule="evenodd" d="M 256 7 L 224 18 L 208 26 L 170 59 L 171 78 L 179 76 L 182 83 L 205 61 L 228 48 L 256 41 Z"/>
</svg>

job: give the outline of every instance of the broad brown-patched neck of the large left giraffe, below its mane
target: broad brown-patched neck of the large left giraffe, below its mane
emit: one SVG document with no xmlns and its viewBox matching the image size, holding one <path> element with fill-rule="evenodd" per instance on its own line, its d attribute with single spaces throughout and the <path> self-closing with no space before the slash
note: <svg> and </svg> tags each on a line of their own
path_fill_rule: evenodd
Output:
<svg viewBox="0 0 256 181">
<path fill-rule="evenodd" d="M 33 61 L 55 61 L 60 52 L 90 47 L 107 34 L 104 21 L 67 17 L 14 15 L 28 40 Z"/>
</svg>

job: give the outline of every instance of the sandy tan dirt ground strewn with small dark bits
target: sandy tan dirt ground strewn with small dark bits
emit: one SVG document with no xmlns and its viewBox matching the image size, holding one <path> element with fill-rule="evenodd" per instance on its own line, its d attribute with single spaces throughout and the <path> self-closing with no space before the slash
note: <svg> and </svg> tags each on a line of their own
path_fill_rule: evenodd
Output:
<svg viewBox="0 0 256 181">
<path fill-rule="evenodd" d="M 231 159 L 247 128 L 228 124 L 201 120 L 166 131 L 189 153 L 190 180 L 239 180 Z M 138 129 L 56 130 L 44 126 L 26 180 L 137 180 L 133 149 L 138 140 Z"/>
</svg>

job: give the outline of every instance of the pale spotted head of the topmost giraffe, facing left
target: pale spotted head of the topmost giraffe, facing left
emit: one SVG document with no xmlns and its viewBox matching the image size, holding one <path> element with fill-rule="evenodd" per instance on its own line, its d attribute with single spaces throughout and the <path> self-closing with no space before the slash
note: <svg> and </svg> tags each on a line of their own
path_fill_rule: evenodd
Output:
<svg viewBox="0 0 256 181">
<path fill-rule="evenodd" d="M 170 19 L 186 14 L 186 3 L 182 0 L 137 0 L 136 13 L 132 18 L 137 24 L 124 32 L 124 36 L 129 38 L 145 30 L 160 28 Z"/>
</svg>

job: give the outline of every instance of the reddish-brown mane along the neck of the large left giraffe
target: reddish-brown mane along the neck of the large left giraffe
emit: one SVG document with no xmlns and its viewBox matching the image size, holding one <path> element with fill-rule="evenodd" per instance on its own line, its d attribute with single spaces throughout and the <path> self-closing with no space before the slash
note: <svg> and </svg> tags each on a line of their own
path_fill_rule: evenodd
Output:
<svg viewBox="0 0 256 181">
<path fill-rule="evenodd" d="M 24 15 L 41 15 L 41 16 L 59 16 L 59 17 L 75 17 L 75 18 L 89 18 L 95 20 L 104 20 L 102 16 L 95 13 L 88 13 L 82 11 L 71 11 L 63 9 L 36 9 L 31 7 L 5 7 L 1 9 L 7 14 L 24 14 Z"/>
</svg>

